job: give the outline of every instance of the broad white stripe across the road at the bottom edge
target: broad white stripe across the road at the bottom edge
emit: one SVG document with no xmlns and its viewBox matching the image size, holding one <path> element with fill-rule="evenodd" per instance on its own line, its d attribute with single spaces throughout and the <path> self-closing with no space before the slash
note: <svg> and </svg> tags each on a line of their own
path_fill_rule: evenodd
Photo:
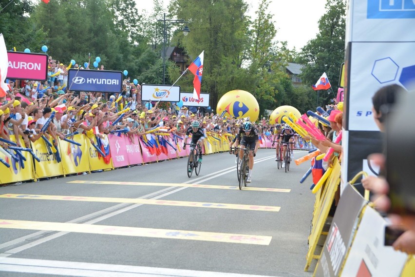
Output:
<svg viewBox="0 0 415 277">
<path fill-rule="evenodd" d="M 0 257 L 0 270 L 7 272 L 38 273 L 41 275 L 126 277 L 126 276 L 175 276 L 175 277 L 264 277 L 225 272 L 198 271 L 189 269 L 158 268 L 122 264 L 104 264 L 60 260 Z"/>
</svg>

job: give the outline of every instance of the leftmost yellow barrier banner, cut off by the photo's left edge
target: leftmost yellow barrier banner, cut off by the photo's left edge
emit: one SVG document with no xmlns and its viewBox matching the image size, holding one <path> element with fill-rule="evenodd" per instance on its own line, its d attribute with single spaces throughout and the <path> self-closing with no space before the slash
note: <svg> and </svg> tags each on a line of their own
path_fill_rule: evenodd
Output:
<svg viewBox="0 0 415 277">
<path fill-rule="evenodd" d="M 16 142 L 15 136 L 10 136 L 10 140 Z M 22 139 L 20 139 L 20 145 L 25 147 Z M 8 149 L 8 151 L 11 152 L 13 156 L 15 156 L 15 158 L 13 158 L 10 154 L 8 154 L 4 149 L 1 148 L 0 158 L 10 167 L 7 167 L 2 162 L 0 163 L 0 183 L 8 184 L 26 180 L 33 180 L 34 176 L 32 155 L 27 151 L 19 151 L 21 155 L 24 157 L 22 158 L 19 154 L 16 153 L 16 151 L 11 149 Z"/>
</svg>

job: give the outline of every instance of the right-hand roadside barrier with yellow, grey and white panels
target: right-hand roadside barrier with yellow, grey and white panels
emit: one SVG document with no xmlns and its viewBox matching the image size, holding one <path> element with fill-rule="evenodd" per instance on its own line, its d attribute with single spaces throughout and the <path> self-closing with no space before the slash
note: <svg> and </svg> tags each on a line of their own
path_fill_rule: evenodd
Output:
<svg viewBox="0 0 415 277">
<path fill-rule="evenodd" d="M 316 192 L 306 255 L 307 271 L 317 259 L 313 276 L 415 276 L 415 259 L 384 245 L 386 220 L 352 185 L 345 187 L 328 232 L 323 231 L 340 184 L 340 163 L 334 158 L 331 173 Z M 322 248 L 322 236 L 326 235 Z"/>
</svg>

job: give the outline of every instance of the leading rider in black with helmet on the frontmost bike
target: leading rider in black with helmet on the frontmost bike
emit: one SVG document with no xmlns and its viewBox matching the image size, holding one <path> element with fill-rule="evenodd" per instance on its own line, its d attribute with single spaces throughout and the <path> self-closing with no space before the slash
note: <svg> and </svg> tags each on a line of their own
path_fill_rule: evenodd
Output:
<svg viewBox="0 0 415 277">
<path fill-rule="evenodd" d="M 249 147 L 249 173 L 246 182 L 250 183 L 252 180 L 252 168 L 254 167 L 254 157 L 259 148 L 259 140 L 258 140 L 258 129 L 252 126 L 251 122 L 245 121 L 241 128 L 239 128 L 239 136 L 241 138 L 241 143 L 239 147 L 239 158 L 242 160 L 244 157 L 244 150 L 245 147 Z M 242 164 L 242 163 L 241 163 Z M 242 170 L 242 169 L 240 169 Z"/>
</svg>

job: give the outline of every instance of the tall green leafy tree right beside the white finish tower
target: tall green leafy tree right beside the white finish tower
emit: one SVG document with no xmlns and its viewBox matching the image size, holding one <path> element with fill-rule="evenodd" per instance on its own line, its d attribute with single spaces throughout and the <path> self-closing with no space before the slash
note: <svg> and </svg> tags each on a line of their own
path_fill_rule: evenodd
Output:
<svg viewBox="0 0 415 277">
<path fill-rule="evenodd" d="M 307 85 L 315 84 L 326 72 L 335 90 L 344 61 L 345 0 L 327 0 L 326 13 L 319 20 L 319 34 L 302 48 L 301 62 L 305 64 L 301 78 Z M 320 94 L 318 105 L 326 105 L 333 94 Z"/>
</svg>

